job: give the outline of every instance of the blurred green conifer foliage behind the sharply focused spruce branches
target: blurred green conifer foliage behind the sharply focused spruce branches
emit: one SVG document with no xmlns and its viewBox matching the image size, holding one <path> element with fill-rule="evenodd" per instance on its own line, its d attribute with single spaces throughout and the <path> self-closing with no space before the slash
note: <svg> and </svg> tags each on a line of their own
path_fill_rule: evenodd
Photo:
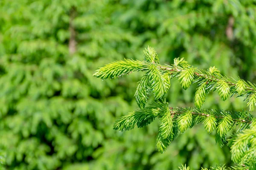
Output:
<svg viewBox="0 0 256 170">
<path fill-rule="evenodd" d="M 228 147 L 197 125 L 161 154 L 158 122 L 117 132 L 138 109 L 142 74 L 100 80 L 93 72 L 155 48 L 161 64 L 184 57 L 198 68 L 255 82 L 256 0 L 0 0 L 0 169 L 193 170 L 233 165 Z M 193 107 L 196 85 L 172 80 L 172 107 Z M 242 110 L 243 98 L 203 108 Z"/>
</svg>

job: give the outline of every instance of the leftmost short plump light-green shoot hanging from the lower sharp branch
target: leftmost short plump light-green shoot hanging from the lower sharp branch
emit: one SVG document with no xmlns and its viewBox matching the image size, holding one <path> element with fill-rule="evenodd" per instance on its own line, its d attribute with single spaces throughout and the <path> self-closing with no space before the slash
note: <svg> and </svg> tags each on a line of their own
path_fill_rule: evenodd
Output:
<svg viewBox="0 0 256 170">
<path fill-rule="evenodd" d="M 186 113 L 182 113 L 179 115 L 178 119 L 178 127 L 180 132 L 185 132 L 192 124 L 192 113 L 191 111 L 187 111 Z"/>
</svg>

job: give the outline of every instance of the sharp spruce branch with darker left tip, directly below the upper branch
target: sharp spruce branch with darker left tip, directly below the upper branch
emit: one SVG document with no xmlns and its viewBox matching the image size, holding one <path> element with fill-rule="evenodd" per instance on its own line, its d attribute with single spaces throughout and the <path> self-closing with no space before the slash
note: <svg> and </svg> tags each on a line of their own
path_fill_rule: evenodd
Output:
<svg viewBox="0 0 256 170">
<path fill-rule="evenodd" d="M 211 133 L 217 130 L 216 142 L 221 146 L 225 143 L 227 132 L 236 126 L 240 131 L 256 125 L 256 119 L 246 111 L 207 110 L 197 108 L 172 108 L 168 102 L 154 101 L 148 107 L 139 109 L 128 115 L 120 117 L 114 124 L 114 129 L 119 131 L 131 130 L 137 127 L 145 127 L 154 121 L 160 120 L 157 136 L 157 148 L 164 152 L 178 132 L 183 133 L 195 124 L 204 121 L 204 128 Z M 194 122 L 194 123 L 193 123 Z"/>
</svg>

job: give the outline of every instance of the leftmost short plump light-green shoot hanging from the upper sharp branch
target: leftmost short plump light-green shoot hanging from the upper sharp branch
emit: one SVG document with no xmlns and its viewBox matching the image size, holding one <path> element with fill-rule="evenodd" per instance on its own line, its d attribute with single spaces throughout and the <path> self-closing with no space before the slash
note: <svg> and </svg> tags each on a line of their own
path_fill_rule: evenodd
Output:
<svg viewBox="0 0 256 170">
<path fill-rule="evenodd" d="M 182 88 L 189 88 L 194 80 L 194 68 L 185 68 L 178 74 L 178 80 Z"/>
</svg>

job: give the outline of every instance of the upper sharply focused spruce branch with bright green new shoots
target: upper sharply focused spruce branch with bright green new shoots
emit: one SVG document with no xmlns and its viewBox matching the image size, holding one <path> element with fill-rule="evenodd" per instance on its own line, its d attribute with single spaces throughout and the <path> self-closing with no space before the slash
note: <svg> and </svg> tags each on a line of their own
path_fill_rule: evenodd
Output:
<svg viewBox="0 0 256 170">
<path fill-rule="evenodd" d="M 160 65 L 156 51 L 148 47 L 144 51 L 144 61 L 125 59 L 112 62 L 96 70 L 93 76 L 101 79 L 118 78 L 134 71 L 146 71 L 145 77 L 139 82 L 135 93 L 136 101 L 140 108 L 145 107 L 148 92 L 152 91 L 155 99 L 161 99 L 170 88 L 170 79 L 176 77 L 185 90 L 192 83 L 198 83 L 195 94 L 195 106 L 201 108 L 207 94 L 217 91 L 221 99 L 226 100 L 231 94 L 245 96 L 247 106 L 253 111 L 256 105 L 256 85 L 238 78 L 223 76 L 215 67 L 208 70 L 194 68 L 183 58 L 175 58 L 172 65 Z M 148 82 L 148 85 L 146 85 Z M 148 89 L 148 90 L 146 90 Z"/>
</svg>

